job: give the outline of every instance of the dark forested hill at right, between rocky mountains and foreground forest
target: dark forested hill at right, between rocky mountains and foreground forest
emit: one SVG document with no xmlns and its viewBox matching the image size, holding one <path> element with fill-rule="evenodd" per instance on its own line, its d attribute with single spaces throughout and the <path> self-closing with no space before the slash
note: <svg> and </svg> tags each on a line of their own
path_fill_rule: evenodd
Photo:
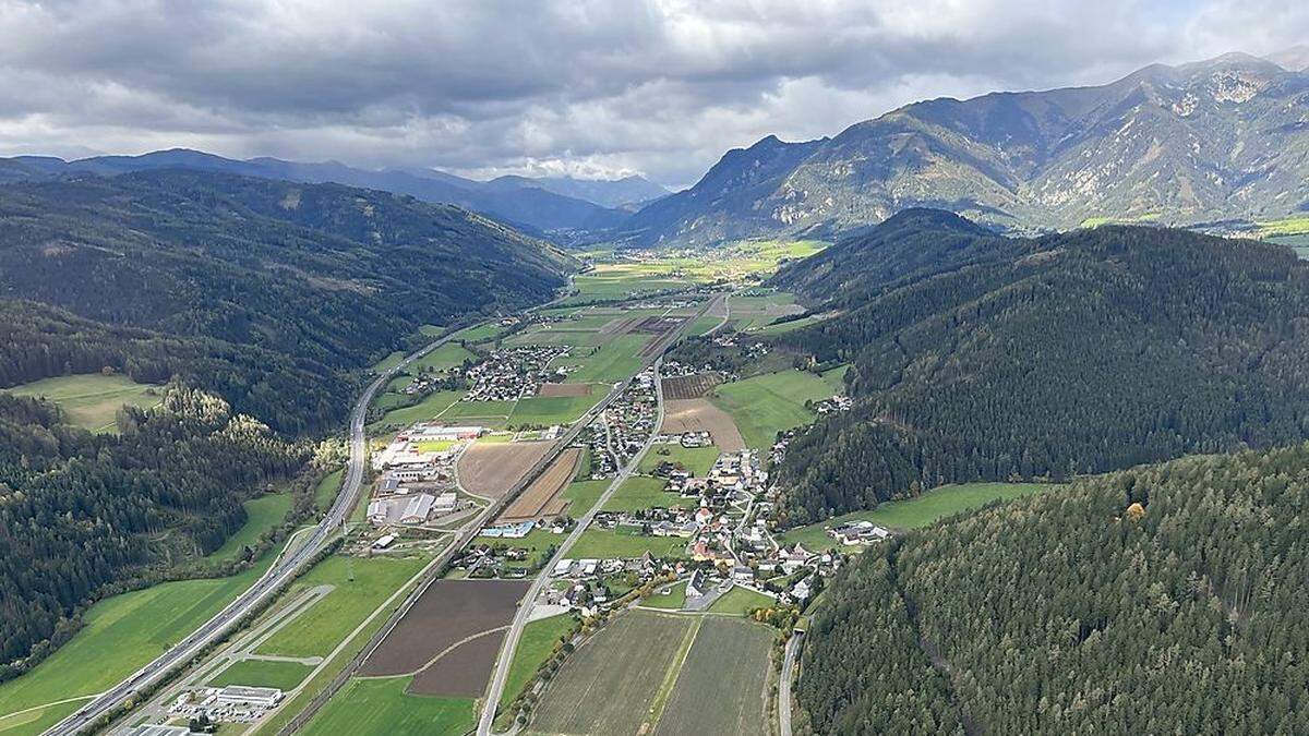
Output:
<svg viewBox="0 0 1309 736">
<path fill-rule="evenodd" d="M 1280 246 L 908 212 L 776 283 L 844 310 L 776 340 L 851 361 L 855 399 L 787 452 L 785 524 L 1309 436 L 1309 263 Z"/>
</svg>

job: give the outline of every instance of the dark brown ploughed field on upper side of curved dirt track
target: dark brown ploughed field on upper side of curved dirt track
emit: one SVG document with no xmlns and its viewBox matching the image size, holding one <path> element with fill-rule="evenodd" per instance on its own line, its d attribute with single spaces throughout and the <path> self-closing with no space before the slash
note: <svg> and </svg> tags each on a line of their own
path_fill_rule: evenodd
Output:
<svg viewBox="0 0 1309 736">
<path fill-rule="evenodd" d="M 509 623 L 518 598 L 526 591 L 528 583 L 517 580 L 432 583 L 368 657 L 360 674 L 406 674 L 419 671 L 452 644 Z M 457 652 L 454 650 L 446 656 Z M 487 671 L 490 672 L 490 667 Z M 486 676 L 480 684 L 480 688 L 484 686 Z"/>
</svg>

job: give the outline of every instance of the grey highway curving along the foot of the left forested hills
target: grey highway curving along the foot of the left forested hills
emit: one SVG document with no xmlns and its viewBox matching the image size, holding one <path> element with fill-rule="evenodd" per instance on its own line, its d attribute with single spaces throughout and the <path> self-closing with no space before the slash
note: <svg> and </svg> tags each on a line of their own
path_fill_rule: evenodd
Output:
<svg viewBox="0 0 1309 736">
<path fill-rule="evenodd" d="M 145 667 L 137 669 L 127 680 L 123 680 L 118 685 L 114 685 L 109 690 L 101 693 L 76 712 L 52 726 L 48 731 L 46 731 L 46 733 L 54 736 L 67 736 L 88 731 L 90 727 L 96 726 L 102 716 L 110 714 L 122 703 L 132 699 L 143 689 L 157 684 L 177 667 L 188 663 L 195 655 L 225 635 L 242 618 L 268 602 L 283 585 L 300 575 L 314 555 L 318 554 L 318 551 L 322 550 L 336 530 L 344 525 L 350 511 L 355 508 L 360 488 L 363 487 L 364 464 L 368 461 L 368 437 L 364 433 L 364 419 L 368 415 L 368 406 L 372 403 L 373 396 L 381 386 L 385 386 L 397 372 L 404 369 L 412 361 L 449 340 L 450 335 L 446 335 L 406 356 L 404 360 L 385 371 L 381 376 L 368 384 L 364 393 L 359 396 L 359 399 L 355 402 L 355 407 L 350 414 L 350 462 L 346 466 L 346 478 L 342 482 L 340 492 L 336 495 L 336 500 L 323 516 L 322 521 L 318 523 L 313 536 L 306 542 L 298 545 L 295 550 L 289 550 L 283 554 L 283 557 L 278 559 L 272 567 L 270 567 L 268 571 L 254 583 L 254 585 L 237 596 L 234 601 L 228 604 L 228 606 L 220 610 L 213 618 L 207 621 L 177 644 L 173 644 L 173 647 L 154 659 L 154 661 L 151 661 Z"/>
</svg>

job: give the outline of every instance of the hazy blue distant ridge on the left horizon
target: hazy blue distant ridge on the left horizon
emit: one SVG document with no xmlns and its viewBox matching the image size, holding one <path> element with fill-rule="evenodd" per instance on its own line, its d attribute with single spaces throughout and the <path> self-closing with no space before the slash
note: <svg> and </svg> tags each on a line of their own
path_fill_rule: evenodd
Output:
<svg viewBox="0 0 1309 736">
<path fill-rule="evenodd" d="M 653 191 L 651 187 L 657 187 L 645 179 L 632 181 L 632 177 L 615 182 L 525 177 L 518 177 L 521 181 L 501 178 L 479 182 L 435 169 L 374 172 L 336 161 L 304 164 L 268 157 L 241 161 L 185 148 L 156 151 L 141 156 L 97 156 L 76 161 L 45 156 L 0 158 L 0 182 L 43 179 L 76 173 L 117 175 L 157 169 L 219 172 L 302 183 L 339 183 L 407 194 L 424 202 L 473 210 L 538 236 L 617 227 L 627 213 L 614 208 L 613 204 L 597 204 L 589 198 L 624 199 L 631 193 L 649 194 Z M 664 191 L 662 187 L 658 189 Z"/>
</svg>

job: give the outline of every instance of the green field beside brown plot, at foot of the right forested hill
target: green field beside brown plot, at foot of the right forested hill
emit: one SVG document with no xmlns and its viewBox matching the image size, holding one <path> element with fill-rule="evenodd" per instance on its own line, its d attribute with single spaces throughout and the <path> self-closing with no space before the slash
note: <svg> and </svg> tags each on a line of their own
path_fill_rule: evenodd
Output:
<svg viewBox="0 0 1309 736">
<path fill-rule="evenodd" d="M 711 401 L 732 415 L 747 447 L 763 449 L 772 445 L 778 432 L 813 422 L 814 413 L 805 409 L 805 402 L 836 393 L 833 381 L 808 371 L 766 373 L 723 384 Z"/>
</svg>

